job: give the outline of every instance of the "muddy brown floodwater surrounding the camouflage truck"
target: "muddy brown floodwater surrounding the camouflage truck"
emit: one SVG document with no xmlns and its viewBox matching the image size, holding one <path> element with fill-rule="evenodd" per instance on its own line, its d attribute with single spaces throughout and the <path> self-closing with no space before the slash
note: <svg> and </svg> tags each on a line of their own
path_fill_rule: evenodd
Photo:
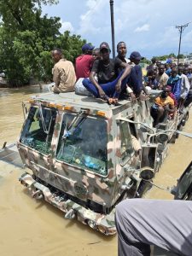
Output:
<svg viewBox="0 0 192 256">
<path fill-rule="evenodd" d="M 38 86 L 0 89 L 0 148 L 13 143 L 23 122 L 21 102 L 40 92 Z M 192 132 L 192 111 L 184 131 Z M 180 136 L 170 145 L 154 183 L 172 187 L 192 160 L 192 140 Z M 78 221 L 64 218 L 46 202 L 34 201 L 20 183 L 21 168 L 0 162 L 0 255 L 2 256 L 104 256 L 117 255 L 117 236 L 100 235 Z M 153 187 L 146 198 L 172 199 Z"/>
</svg>

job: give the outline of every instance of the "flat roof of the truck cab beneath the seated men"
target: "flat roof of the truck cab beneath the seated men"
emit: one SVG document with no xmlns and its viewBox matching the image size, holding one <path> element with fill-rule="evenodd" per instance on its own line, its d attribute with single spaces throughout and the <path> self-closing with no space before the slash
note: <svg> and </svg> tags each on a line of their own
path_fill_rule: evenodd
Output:
<svg viewBox="0 0 192 256">
<path fill-rule="evenodd" d="M 74 92 L 60 94 L 49 92 L 38 96 L 32 96 L 32 99 L 37 100 L 38 102 L 51 102 L 55 104 L 61 104 L 63 106 L 72 106 L 77 109 L 87 108 L 90 109 L 91 112 L 105 111 L 108 113 L 113 112 L 113 114 L 119 113 L 123 109 L 132 105 L 132 102 L 127 100 L 119 101 L 117 106 L 108 105 L 108 103 L 102 101 L 102 99 L 97 99 L 92 96 L 79 96 Z"/>
</svg>

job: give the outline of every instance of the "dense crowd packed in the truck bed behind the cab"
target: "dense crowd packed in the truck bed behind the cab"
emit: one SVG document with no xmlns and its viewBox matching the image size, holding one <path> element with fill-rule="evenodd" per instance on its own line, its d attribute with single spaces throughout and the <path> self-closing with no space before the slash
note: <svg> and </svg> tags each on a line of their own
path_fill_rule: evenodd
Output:
<svg viewBox="0 0 192 256">
<path fill-rule="evenodd" d="M 187 63 L 180 63 L 178 67 L 172 62 L 163 64 L 153 58 L 144 77 L 144 86 L 149 90 L 162 90 L 151 108 L 155 126 L 165 116 L 172 118 L 177 108 L 183 113 L 184 106 L 191 102 L 192 67 Z"/>
</svg>

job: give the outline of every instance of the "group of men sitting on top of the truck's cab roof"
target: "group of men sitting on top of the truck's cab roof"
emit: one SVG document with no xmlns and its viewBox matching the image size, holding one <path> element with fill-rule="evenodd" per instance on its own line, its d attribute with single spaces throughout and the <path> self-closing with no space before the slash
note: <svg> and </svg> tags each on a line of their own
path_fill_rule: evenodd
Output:
<svg viewBox="0 0 192 256">
<path fill-rule="evenodd" d="M 72 62 L 63 59 L 61 49 L 52 51 L 55 61 L 55 93 L 75 90 L 76 82 L 81 79 L 84 90 L 89 90 L 93 96 L 102 98 L 109 104 L 116 104 L 119 97 L 127 95 L 127 92 L 132 99 L 140 96 L 143 90 L 143 74 L 138 64 L 143 57 L 137 51 L 132 52 L 128 60 L 125 58 L 126 44 L 119 42 L 118 55 L 113 60 L 110 58 L 111 49 L 108 43 L 102 42 L 96 49 L 90 44 L 84 44 L 82 52 L 73 67 Z"/>
</svg>

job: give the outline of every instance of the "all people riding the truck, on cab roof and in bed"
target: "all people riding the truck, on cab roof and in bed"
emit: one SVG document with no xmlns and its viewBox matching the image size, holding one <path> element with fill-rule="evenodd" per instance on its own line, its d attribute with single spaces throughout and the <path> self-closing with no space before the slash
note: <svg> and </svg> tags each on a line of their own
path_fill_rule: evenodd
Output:
<svg viewBox="0 0 192 256">
<path fill-rule="evenodd" d="M 192 67 L 187 64 L 163 64 L 152 59 L 147 75 L 143 77 L 139 62 L 143 59 L 139 52 L 133 51 L 126 58 L 126 44 L 117 44 L 117 56 L 110 58 L 111 49 L 107 42 L 99 48 L 84 44 L 82 55 L 71 61 L 63 59 L 61 49 L 54 49 L 55 61 L 53 80 L 55 93 L 75 90 L 77 94 L 92 95 L 108 104 L 118 104 L 119 99 L 145 99 L 149 90 L 161 90 L 154 100 L 151 115 L 154 126 L 166 118 L 172 119 L 175 111 L 183 113 L 184 105 L 191 102 Z"/>
</svg>

